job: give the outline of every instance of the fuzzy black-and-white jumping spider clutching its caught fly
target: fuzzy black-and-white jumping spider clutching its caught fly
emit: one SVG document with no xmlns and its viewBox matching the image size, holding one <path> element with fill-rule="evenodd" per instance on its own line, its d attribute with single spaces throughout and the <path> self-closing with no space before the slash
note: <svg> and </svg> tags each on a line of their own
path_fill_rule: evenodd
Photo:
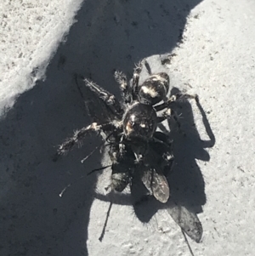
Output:
<svg viewBox="0 0 255 256">
<path fill-rule="evenodd" d="M 140 84 L 139 74 L 143 65 L 150 77 Z M 132 185 L 134 175 L 139 175 L 150 195 L 165 203 L 170 196 L 165 174 L 173 165 L 173 151 L 167 135 L 156 132 L 156 128 L 159 122 L 170 117 L 178 122 L 177 116 L 171 110 L 176 100 L 197 100 L 197 96 L 174 94 L 167 98 L 167 73 L 151 74 L 146 60 L 135 66 L 132 82 L 128 82 L 126 75 L 120 71 L 115 72 L 115 79 L 121 88 L 122 103 L 104 88 L 84 79 L 88 89 L 104 103 L 107 121 L 93 122 L 78 130 L 59 145 L 58 152 L 64 154 L 91 132 L 99 132 L 110 147 L 111 188 L 122 192 L 128 184 Z M 157 114 L 159 111 L 162 111 L 161 115 Z"/>
</svg>

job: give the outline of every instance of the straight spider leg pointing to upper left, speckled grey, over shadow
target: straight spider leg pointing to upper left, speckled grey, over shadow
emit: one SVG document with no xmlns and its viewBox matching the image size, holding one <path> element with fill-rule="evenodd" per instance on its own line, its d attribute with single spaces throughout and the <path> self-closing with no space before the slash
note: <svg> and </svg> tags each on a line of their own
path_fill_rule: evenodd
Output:
<svg viewBox="0 0 255 256">
<path fill-rule="evenodd" d="M 95 94 L 99 96 L 101 100 L 105 102 L 106 105 L 109 106 L 110 110 L 120 119 L 122 118 L 123 110 L 120 102 L 116 100 L 115 96 L 104 88 L 101 88 L 95 82 L 89 81 L 87 78 L 84 79 L 85 85 L 93 91 Z"/>
</svg>

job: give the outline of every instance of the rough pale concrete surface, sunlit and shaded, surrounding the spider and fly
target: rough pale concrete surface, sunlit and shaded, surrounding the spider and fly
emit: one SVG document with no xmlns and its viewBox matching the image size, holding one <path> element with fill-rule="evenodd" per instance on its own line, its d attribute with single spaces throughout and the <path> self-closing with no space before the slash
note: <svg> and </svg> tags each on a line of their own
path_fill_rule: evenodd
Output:
<svg viewBox="0 0 255 256">
<path fill-rule="evenodd" d="M 200 243 L 188 238 L 194 255 L 255 254 L 252 0 L 0 6 L 0 255 L 190 255 L 167 206 L 144 205 L 139 215 L 117 196 L 99 242 L 111 198 L 96 192 L 106 193 L 111 172 L 79 179 L 101 166 L 99 152 L 80 162 L 99 139 L 53 161 L 56 145 L 89 123 L 73 75 L 119 95 L 113 72 L 130 76 L 144 58 L 172 87 L 200 97 L 201 106 L 179 110 L 187 136 L 173 128 L 170 182 L 203 226 Z"/>
</svg>

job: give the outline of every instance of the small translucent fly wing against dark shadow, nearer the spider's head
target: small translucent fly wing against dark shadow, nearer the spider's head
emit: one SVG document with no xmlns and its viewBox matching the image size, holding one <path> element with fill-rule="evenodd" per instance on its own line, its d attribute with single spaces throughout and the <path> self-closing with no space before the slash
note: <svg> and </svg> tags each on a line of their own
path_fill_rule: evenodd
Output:
<svg viewBox="0 0 255 256">
<path fill-rule="evenodd" d="M 170 190 L 167 179 L 161 171 L 156 170 L 156 168 L 144 170 L 141 180 L 147 190 L 155 196 L 156 200 L 163 203 L 167 202 L 170 196 Z"/>
</svg>

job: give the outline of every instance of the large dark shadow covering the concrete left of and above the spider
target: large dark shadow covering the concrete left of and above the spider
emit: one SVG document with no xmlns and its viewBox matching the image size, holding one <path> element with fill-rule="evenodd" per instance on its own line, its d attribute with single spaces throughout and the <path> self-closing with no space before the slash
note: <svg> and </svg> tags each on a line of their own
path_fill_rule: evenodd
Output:
<svg viewBox="0 0 255 256">
<path fill-rule="evenodd" d="M 47 79 L 22 94 L 0 122 L 1 255 L 88 255 L 88 221 L 96 175 L 81 179 L 63 198 L 59 192 L 84 172 L 99 167 L 98 154 L 84 165 L 80 162 L 98 142 L 88 138 L 82 150 L 72 151 L 57 162 L 52 159 L 55 145 L 89 122 L 73 74 L 89 77 L 116 93 L 115 69 L 131 74 L 134 62 L 171 52 L 181 43 L 190 9 L 200 2 L 83 3 L 77 23 L 48 65 Z M 180 140 L 176 147 L 182 145 Z M 191 163 L 195 156 L 189 154 L 190 150 L 185 157 Z M 180 161 L 183 157 L 179 156 Z M 198 172 L 197 166 L 194 168 Z M 171 180 L 180 179 L 180 175 L 174 171 Z M 182 192 L 174 193 L 177 199 L 183 198 Z M 196 199 L 193 196 L 191 202 Z M 204 202 L 201 198 L 200 204 Z"/>
</svg>

